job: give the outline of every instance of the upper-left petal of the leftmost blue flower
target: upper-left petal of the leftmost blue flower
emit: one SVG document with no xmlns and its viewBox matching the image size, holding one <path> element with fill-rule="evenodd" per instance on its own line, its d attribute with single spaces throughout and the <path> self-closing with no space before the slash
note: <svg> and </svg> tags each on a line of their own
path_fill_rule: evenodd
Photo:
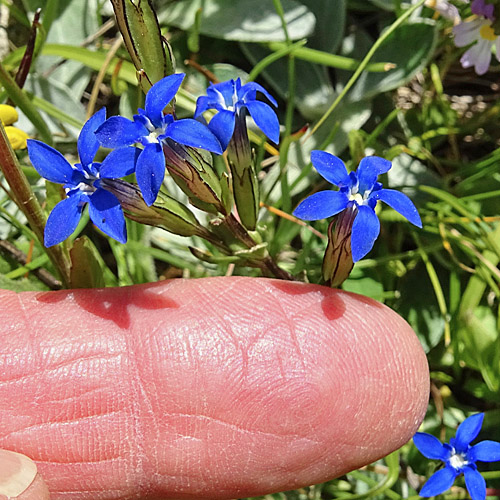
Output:
<svg viewBox="0 0 500 500">
<path fill-rule="evenodd" d="M 58 184 L 71 182 L 73 167 L 59 151 L 34 139 L 27 142 L 31 163 L 42 177 Z"/>
</svg>

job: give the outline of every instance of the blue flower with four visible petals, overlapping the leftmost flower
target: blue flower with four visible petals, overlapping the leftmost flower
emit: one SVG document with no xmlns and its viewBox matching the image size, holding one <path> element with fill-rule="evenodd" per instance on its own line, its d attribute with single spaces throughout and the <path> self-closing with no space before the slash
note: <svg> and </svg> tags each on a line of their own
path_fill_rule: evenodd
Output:
<svg viewBox="0 0 500 500">
<path fill-rule="evenodd" d="M 123 116 L 112 116 L 96 131 L 97 139 L 106 147 L 142 144 L 144 149 L 137 160 L 135 175 L 148 205 L 156 200 L 165 175 L 164 139 L 168 137 L 186 146 L 222 154 L 219 141 L 205 125 L 197 120 L 175 120 L 171 114 L 163 114 L 184 76 L 177 73 L 155 83 L 146 94 L 146 109 L 139 109 L 133 121 Z"/>
</svg>

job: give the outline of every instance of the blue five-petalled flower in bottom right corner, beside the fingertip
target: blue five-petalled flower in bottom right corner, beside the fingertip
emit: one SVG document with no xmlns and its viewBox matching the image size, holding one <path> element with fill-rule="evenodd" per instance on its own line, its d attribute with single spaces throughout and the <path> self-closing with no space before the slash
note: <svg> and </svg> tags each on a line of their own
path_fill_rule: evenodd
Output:
<svg viewBox="0 0 500 500">
<path fill-rule="evenodd" d="M 426 458 L 441 460 L 445 466 L 435 472 L 420 490 L 420 496 L 433 497 L 445 492 L 460 474 L 465 476 L 465 485 L 472 500 L 486 498 L 486 483 L 478 472 L 476 462 L 498 462 L 500 443 L 481 441 L 471 446 L 483 425 L 484 413 L 477 413 L 465 419 L 457 429 L 450 443 L 442 444 L 439 439 L 425 432 L 417 432 L 413 442 Z"/>
</svg>

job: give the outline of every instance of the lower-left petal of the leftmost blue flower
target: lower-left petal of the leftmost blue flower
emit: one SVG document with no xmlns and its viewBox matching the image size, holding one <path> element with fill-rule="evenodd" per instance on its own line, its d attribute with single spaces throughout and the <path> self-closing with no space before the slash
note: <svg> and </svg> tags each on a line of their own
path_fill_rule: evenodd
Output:
<svg viewBox="0 0 500 500">
<path fill-rule="evenodd" d="M 60 201 L 50 212 L 45 224 L 44 244 L 46 247 L 57 245 L 71 236 L 80 222 L 83 200 L 79 192 Z"/>
</svg>

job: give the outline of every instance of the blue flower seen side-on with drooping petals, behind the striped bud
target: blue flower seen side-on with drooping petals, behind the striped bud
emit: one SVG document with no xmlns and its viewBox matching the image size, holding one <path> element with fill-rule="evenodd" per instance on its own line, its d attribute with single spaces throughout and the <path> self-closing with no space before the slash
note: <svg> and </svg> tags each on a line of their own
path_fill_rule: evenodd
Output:
<svg viewBox="0 0 500 500">
<path fill-rule="evenodd" d="M 217 136 L 223 149 L 226 149 L 233 136 L 236 119 L 244 119 L 243 110 L 247 109 L 257 127 L 271 141 L 277 143 L 280 136 L 278 117 L 271 106 L 256 100 L 257 92 L 264 94 L 274 106 L 277 106 L 274 98 L 264 87 L 255 82 L 241 85 L 241 80 L 238 78 L 210 85 L 207 95 L 198 97 L 194 117 L 198 118 L 207 109 L 216 109 L 218 113 L 210 120 L 208 127 Z"/>
</svg>

